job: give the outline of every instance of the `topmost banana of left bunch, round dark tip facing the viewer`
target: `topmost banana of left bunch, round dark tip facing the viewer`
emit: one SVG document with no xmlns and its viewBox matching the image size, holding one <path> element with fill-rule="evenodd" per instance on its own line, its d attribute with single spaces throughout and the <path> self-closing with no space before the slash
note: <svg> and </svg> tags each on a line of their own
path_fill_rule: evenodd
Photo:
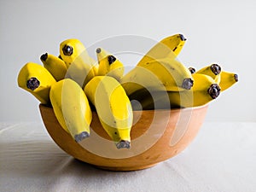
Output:
<svg viewBox="0 0 256 192">
<path fill-rule="evenodd" d="M 93 60 L 78 39 L 67 39 L 60 44 L 60 54 L 67 65 L 66 78 L 73 79 L 82 88 L 95 76 Z"/>
</svg>

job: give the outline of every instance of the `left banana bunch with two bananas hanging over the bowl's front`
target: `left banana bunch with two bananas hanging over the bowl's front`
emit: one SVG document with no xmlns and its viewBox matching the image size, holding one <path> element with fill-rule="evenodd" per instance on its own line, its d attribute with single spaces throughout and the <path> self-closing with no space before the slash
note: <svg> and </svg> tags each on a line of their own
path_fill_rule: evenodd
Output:
<svg viewBox="0 0 256 192">
<path fill-rule="evenodd" d="M 63 130 L 76 142 L 90 137 L 92 105 L 117 148 L 130 148 L 133 113 L 119 83 L 124 65 L 105 49 L 96 49 L 97 62 L 78 39 L 60 44 L 60 55 L 44 53 L 43 65 L 28 62 L 20 69 L 18 85 L 53 108 Z"/>
</svg>

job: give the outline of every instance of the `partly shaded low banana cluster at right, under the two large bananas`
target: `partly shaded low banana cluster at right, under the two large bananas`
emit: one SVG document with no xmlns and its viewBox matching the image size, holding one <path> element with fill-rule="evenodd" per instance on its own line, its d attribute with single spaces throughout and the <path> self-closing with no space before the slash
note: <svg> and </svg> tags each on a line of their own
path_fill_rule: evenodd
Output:
<svg viewBox="0 0 256 192">
<path fill-rule="evenodd" d="M 134 108 L 140 109 L 164 109 L 164 108 L 192 108 L 205 105 L 216 99 L 221 92 L 227 90 L 238 81 L 236 73 L 222 71 L 222 68 L 213 63 L 195 71 L 189 67 L 194 79 L 190 90 L 162 91 L 146 89 L 140 90 L 130 96 L 135 102 Z M 138 97 L 137 95 L 143 95 Z"/>
</svg>

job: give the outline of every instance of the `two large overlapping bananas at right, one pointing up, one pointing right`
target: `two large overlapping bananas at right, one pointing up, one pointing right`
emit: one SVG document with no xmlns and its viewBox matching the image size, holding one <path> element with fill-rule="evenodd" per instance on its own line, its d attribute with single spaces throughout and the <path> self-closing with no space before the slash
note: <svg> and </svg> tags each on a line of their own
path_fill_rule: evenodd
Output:
<svg viewBox="0 0 256 192">
<path fill-rule="evenodd" d="M 187 67 L 177 61 L 177 55 L 185 41 L 182 34 L 176 34 L 155 44 L 137 63 L 137 66 L 120 79 L 127 95 L 130 96 L 143 88 L 154 87 L 156 90 L 163 90 L 162 85 L 166 90 L 189 90 L 193 86 L 191 73 Z M 142 68 L 152 75 L 145 75 L 146 72 Z M 160 80 L 160 87 L 156 85 L 154 79 Z"/>
</svg>

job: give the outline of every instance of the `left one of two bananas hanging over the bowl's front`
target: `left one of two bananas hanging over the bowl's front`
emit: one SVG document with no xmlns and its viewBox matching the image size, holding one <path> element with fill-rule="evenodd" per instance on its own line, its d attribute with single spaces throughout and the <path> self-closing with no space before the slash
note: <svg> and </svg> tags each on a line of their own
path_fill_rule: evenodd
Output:
<svg viewBox="0 0 256 192">
<path fill-rule="evenodd" d="M 79 84 L 62 79 L 52 85 L 49 98 L 60 125 L 76 142 L 90 136 L 90 104 Z"/>
</svg>

